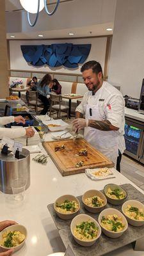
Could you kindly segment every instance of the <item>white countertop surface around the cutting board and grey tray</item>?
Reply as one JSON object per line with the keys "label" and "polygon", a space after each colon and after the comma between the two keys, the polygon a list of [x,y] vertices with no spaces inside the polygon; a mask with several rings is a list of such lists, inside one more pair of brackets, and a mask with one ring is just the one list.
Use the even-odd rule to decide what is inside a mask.
{"label": "white countertop surface around the cutting board and grey tray", "polygon": [[[47,134],[51,140],[51,133]],[[42,145],[41,145],[42,147]],[[43,148],[43,152],[44,148]],[[31,154],[31,159],[36,154]],[[54,221],[47,210],[61,195],[83,195],[88,189],[103,189],[109,182],[115,184],[130,183],[139,189],[130,180],[115,170],[116,178],[93,181],[84,173],[62,177],[51,158],[46,166],[31,160],[31,186],[26,190],[24,201],[15,202],[11,195],[0,193],[1,217],[3,220],[15,220],[28,230],[26,244],[15,256],[47,256],[52,252],[64,252],[65,247],[54,225]],[[139,189],[141,191],[141,189]],[[144,194],[144,191],[141,191]],[[107,256],[144,256],[144,252],[134,252],[129,244]]]}

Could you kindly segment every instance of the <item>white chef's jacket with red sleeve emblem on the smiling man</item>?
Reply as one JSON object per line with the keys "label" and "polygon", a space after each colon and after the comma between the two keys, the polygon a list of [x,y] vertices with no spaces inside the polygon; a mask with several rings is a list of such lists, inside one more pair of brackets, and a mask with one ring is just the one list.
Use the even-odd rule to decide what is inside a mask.
{"label": "white chef's jacket with red sleeve emblem on the smiling man", "polygon": [[[103,120],[109,120],[112,125],[118,127],[118,149],[123,154],[125,150],[124,126],[125,126],[125,101],[122,93],[114,86],[104,81],[100,89],[92,95],[92,91],[84,94],[83,100],[76,111],[83,115],[86,113],[86,104],[94,105],[99,101],[99,111]],[[106,131],[107,132],[107,131]]]}

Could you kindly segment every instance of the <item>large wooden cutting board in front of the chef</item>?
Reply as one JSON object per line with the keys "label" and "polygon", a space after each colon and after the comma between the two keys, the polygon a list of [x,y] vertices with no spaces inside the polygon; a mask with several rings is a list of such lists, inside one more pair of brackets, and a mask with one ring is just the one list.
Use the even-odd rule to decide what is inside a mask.
{"label": "large wooden cutting board in front of the chef", "polygon": [[[65,146],[65,149],[55,152],[57,145]],[[114,164],[106,156],[96,150],[83,138],[77,140],[46,141],[43,143],[45,150],[58,167],[63,176],[82,173],[86,168],[113,167]],[[79,150],[86,148],[88,156],[78,156]],[[82,167],[76,168],[75,164],[83,161]]]}

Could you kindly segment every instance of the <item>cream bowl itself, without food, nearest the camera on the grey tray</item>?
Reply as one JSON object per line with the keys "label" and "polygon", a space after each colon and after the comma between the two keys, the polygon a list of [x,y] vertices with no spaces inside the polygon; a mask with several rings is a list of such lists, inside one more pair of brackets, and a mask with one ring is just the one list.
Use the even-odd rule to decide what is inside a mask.
{"label": "cream bowl itself, without food, nearest the camera on the grey tray", "polygon": [[[97,237],[93,238],[90,241],[83,241],[79,238],[76,237],[76,235],[74,234],[74,230],[76,228],[77,225],[79,225],[80,223],[83,223],[83,221],[90,221],[93,222],[95,224],[95,227],[98,228],[98,233],[97,233]],[[77,215],[71,222],[70,224],[70,230],[72,233],[72,236],[74,237],[75,241],[77,242],[77,244],[80,244],[81,246],[92,246],[97,239],[99,239],[100,235],[101,235],[101,228],[99,223],[93,219],[91,216],[87,215],[87,214],[79,214]]]}

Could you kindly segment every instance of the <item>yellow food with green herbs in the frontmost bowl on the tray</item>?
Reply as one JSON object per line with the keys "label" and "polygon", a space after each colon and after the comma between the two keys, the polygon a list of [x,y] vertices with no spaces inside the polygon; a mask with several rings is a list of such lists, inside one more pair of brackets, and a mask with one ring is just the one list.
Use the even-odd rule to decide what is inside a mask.
{"label": "yellow food with green herbs in the frontmost bowl on the tray", "polygon": [[98,235],[99,228],[92,221],[83,221],[74,228],[74,236],[82,241],[91,241]]}

